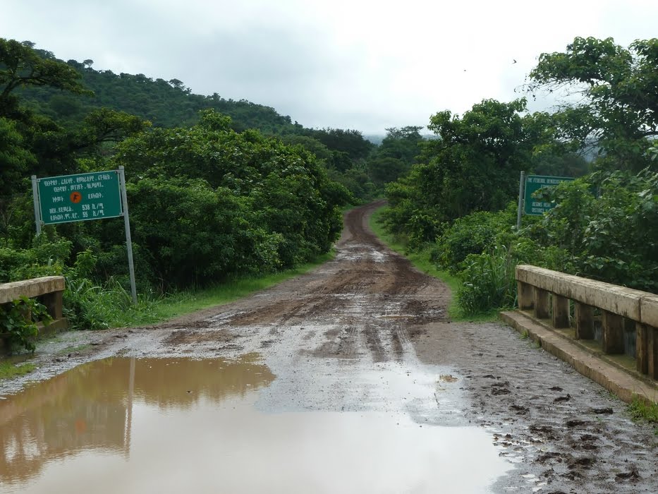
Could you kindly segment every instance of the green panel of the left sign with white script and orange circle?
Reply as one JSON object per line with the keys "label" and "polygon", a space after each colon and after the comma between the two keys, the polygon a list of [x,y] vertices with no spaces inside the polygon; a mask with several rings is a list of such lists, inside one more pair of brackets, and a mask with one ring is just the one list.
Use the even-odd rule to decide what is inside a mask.
{"label": "green panel of the left sign with white script and orange circle", "polygon": [[118,171],[37,179],[44,224],[84,222],[121,216]]}

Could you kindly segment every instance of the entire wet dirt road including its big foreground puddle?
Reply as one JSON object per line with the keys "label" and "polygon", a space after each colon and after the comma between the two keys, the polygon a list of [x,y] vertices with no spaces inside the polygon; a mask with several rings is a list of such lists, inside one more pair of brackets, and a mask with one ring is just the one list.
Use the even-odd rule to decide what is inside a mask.
{"label": "entire wet dirt road including its big foreground puddle", "polygon": [[[9,471],[0,487],[52,492],[68,485],[63,472],[102,479],[111,464],[99,483],[107,492],[185,483],[197,492],[658,492],[651,428],[513,330],[450,323],[448,289],[372,236],[372,209],[346,215],[336,259],[307,275],[158,327],[91,335],[97,345],[77,361],[44,357],[43,377],[121,356],[43,382],[49,390],[31,399],[0,401]],[[200,379],[200,364],[183,357],[222,360]],[[173,384],[163,377],[170,366],[181,376]],[[85,391],[102,375],[121,386]],[[77,408],[42,403],[53,387],[66,397],[56,403]],[[66,418],[72,410],[80,417]],[[123,442],[98,439],[111,410],[123,411]],[[121,462],[121,448],[103,441],[121,442]],[[29,463],[21,458],[40,466],[16,483]]]}

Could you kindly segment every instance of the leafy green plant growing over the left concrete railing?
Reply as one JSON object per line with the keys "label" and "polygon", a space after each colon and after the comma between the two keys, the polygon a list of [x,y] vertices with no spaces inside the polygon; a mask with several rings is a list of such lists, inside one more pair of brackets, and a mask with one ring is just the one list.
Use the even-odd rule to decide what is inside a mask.
{"label": "leafy green plant growing over the left concrete railing", "polygon": [[37,323],[52,322],[46,306],[26,296],[0,306],[0,334],[6,335],[9,348],[23,347],[35,351],[35,339],[39,335]]}

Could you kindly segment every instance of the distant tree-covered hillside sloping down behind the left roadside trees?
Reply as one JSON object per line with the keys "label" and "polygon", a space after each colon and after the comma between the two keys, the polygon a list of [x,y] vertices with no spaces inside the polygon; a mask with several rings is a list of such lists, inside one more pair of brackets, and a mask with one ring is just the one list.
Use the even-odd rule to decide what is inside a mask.
{"label": "distant tree-covered hillside sloping down behind the left roadside trees", "polygon": [[[154,128],[173,128],[193,126],[200,121],[200,112],[212,109],[230,116],[229,125],[236,132],[257,129],[263,135],[276,136],[288,145],[300,145],[312,152],[331,179],[348,188],[353,201],[374,198],[382,193],[384,183],[408,171],[418,154],[416,144],[422,140],[420,127],[391,128],[381,145],[375,146],[357,130],[305,128],[272,107],[226,100],[217,92],[195,95],[178,79],[153,80],[144,74],[96,71],[91,59],[65,63],[47,50],[35,49],[30,42],[23,42],[23,47],[32,49],[40,59],[75,71],[80,86],[80,90],[63,91],[66,88],[57,84],[19,84],[12,91],[26,111],[73,130],[85,128],[94,118],[90,115],[107,110],[139,117]],[[406,150],[393,151],[393,147]],[[379,148],[384,151],[377,152]]]}

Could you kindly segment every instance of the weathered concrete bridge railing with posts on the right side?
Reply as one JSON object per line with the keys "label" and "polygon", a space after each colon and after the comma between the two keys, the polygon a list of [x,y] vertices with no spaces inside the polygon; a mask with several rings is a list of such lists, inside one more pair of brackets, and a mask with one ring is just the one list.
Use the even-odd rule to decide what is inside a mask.
{"label": "weathered concrete bridge railing with posts on the right side", "polygon": [[599,320],[605,354],[623,354],[624,333],[634,331],[637,370],[658,379],[658,295],[530,265],[516,267],[516,280],[520,311],[573,327],[576,339],[594,339]]}

